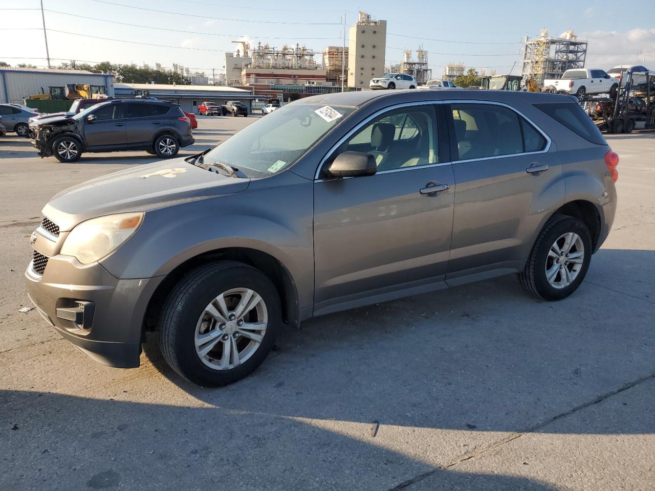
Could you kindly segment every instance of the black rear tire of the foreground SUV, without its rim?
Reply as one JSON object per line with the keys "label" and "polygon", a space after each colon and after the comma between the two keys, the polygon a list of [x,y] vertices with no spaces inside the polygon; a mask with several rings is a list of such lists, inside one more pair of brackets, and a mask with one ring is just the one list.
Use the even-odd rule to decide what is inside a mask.
{"label": "black rear tire of the foreground SUV, without its rim", "polygon": [[[548,282],[548,278],[546,278],[547,261],[552,261],[552,259],[549,259],[548,254],[555,241],[567,232],[578,234],[584,247],[584,257],[582,266],[574,280],[569,285],[558,289],[553,287]],[[517,276],[525,291],[532,293],[540,299],[561,300],[571,295],[580,286],[580,283],[582,283],[582,280],[584,280],[587,274],[590,262],[591,234],[589,234],[586,225],[574,217],[555,215],[546,223],[539,234],[525,263],[525,269]]]}

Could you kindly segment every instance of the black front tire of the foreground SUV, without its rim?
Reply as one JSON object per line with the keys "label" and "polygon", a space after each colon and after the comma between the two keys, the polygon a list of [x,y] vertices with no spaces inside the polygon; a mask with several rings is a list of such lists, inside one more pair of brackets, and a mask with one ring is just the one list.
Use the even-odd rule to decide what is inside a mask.
{"label": "black front tire of the foreground SUV, without its rim", "polygon": [[[268,323],[263,339],[250,358],[240,365],[212,369],[196,353],[198,319],[217,295],[241,287],[256,291],[265,302]],[[280,298],[271,280],[247,264],[219,261],[192,270],[168,295],[162,308],[159,344],[168,365],[189,382],[219,387],[244,378],[261,365],[271,352],[281,325]]]}

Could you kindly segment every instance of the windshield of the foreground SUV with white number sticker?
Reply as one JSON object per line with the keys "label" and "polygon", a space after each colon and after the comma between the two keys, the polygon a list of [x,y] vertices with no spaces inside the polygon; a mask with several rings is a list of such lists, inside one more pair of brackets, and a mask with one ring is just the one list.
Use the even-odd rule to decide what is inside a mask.
{"label": "windshield of the foreground SUV with white number sticker", "polygon": [[214,147],[204,162],[222,162],[252,178],[268,177],[288,168],[352,111],[354,107],[285,105]]}

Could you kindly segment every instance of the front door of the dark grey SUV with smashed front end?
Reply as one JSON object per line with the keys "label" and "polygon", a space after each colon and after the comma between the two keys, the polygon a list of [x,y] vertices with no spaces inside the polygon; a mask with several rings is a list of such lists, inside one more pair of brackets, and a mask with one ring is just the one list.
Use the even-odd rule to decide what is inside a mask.
{"label": "front door of the dark grey SUV with smashed front end", "polygon": [[123,104],[111,103],[98,107],[91,114],[95,121],[84,120],[86,147],[91,151],[125,147],[125,119]]}

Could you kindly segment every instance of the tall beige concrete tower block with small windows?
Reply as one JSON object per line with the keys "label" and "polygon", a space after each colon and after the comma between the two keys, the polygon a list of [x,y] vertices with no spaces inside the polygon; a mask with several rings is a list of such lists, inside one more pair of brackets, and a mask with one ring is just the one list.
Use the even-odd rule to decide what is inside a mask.
{"label": "tall beige concrete tower block with small windows", "polygon": [[360,11],[348,39],[348,87],[367,88],[372,78],[384,75],[386,20],[372,20]]}

